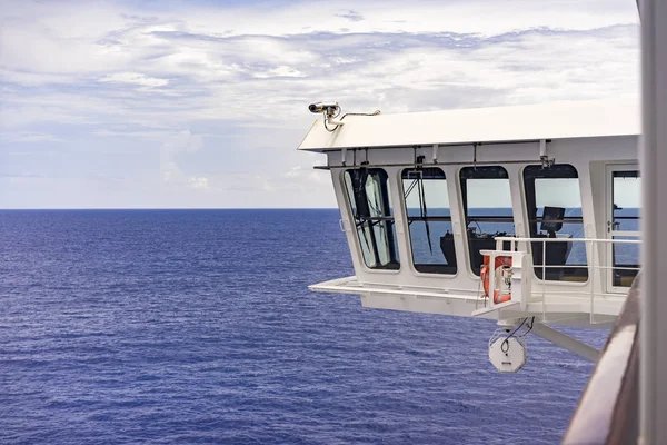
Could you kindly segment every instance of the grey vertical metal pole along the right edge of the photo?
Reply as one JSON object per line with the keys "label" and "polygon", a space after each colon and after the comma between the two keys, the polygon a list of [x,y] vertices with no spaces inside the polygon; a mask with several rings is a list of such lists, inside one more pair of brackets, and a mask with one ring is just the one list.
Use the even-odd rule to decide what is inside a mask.
{"label": "grey vertical metal pole along the right edge of the photo", "polygon": [[641,0],[641,437],[667,444],[667,0]]}

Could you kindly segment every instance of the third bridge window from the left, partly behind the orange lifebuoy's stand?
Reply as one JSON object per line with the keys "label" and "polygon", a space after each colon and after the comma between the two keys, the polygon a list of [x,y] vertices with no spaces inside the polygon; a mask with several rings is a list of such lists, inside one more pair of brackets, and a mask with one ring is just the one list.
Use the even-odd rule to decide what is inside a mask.
{"label": "third bridge window from the left, partly behind the orange lifebuoy's stand", "polygon": [[509,176],[499,166],[466,167],[460,179],[470,268],[479,275],[480,250],[495,250],[496,237],[515,234]]}

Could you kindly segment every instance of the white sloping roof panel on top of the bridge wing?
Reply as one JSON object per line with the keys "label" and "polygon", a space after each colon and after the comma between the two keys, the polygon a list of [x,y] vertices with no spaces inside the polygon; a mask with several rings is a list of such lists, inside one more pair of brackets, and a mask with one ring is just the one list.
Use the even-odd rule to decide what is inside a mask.
{"label": "white sloping roof panel on top of the bridge wing", "polygon": [[318,119],[299,149],[321,151],[628,136],[639,135],[641,127],[637,99],[348,116],[344,122],[336,131],[329,132],[325,129],[323,119]]}

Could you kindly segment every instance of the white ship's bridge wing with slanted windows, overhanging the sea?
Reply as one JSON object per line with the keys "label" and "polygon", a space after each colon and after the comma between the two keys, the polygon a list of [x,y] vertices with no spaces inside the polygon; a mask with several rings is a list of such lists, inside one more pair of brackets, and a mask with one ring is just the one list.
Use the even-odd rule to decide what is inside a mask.
{"label": "white ship's bridge wing with slanted windows, overhanging the sea", "polygon": [[355,276],[310,286],[365,307],[498,322],[501,372],[557,326],[610,328],[639,270],[639,102],[554,102],[406,115],[321,111],[322,152]]}

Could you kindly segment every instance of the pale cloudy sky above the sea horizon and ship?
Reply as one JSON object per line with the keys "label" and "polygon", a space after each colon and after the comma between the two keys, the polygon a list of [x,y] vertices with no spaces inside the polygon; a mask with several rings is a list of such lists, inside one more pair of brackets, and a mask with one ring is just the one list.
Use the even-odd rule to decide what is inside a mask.
{"label": "pale cloudy sky above the sea horizon and ship", "polygon": [[634,0],[0,0],[0,208],[336,207],[316,101],[637,96]]}

